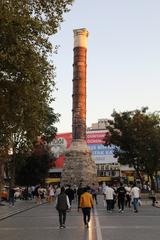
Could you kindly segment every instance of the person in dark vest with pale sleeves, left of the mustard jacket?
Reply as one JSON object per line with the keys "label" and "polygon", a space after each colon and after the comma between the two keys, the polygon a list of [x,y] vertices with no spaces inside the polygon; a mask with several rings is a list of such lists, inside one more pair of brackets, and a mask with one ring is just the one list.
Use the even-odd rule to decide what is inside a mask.
{"label": "person in dark vest with pale sleeves, left of the mustard jacket", "polygon": [[65,188],[61,187],[61,192],[57,196],[56,199],[56,209],[59,214],[59,224],[60,228],[65,228],[65,222],[66,222],[66,212],[68,209],[70,209],[70,203],[69,198],[67,194],[65,193]]}

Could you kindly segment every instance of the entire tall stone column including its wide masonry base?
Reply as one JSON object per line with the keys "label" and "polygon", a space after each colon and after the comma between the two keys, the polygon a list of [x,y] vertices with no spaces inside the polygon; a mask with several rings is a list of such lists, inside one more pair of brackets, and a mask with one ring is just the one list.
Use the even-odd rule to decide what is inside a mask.
{"label": "entire tall stone column including its wide masonry base", "polygon": [[96,164],[86,143],[86,55],[88,31],[74,32],[72,144],[65,154],[62,184],[96,183]]}

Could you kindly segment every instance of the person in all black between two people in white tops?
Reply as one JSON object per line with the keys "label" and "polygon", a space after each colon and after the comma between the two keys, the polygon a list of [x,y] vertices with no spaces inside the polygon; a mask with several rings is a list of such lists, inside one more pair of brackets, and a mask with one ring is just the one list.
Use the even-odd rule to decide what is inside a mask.
{"label": "person in all black between two people in white tops", "polygon": [[123,183],[120,183],[120,187],[117,188],[117,198],[118,198],[118,208],[119,212],[124,212],[126,189],[123,186]]}

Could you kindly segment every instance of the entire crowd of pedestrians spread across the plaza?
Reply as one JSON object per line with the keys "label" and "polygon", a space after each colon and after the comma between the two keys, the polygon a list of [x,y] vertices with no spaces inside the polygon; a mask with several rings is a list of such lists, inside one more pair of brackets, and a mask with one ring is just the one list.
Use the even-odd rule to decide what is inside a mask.
{"label": "entire crowd of pedestrians spread across the plaza", "polygon": [[[59,227],[66,227],[67,212],[72,209],[72,202],[77,203],[77,211],[81,210],[84,226],[89,227],[91,218],[91,209],[98,204],[97,195],[103,195],[104,209],[106,212],[112,213],[118,209],[119,213],[123,213],[125,208],[132,208],[135,213],[138,212],[141,205],[141,190],[136,184],[124,185],[122,182],[116,186],[112,184],[103,184],[101,187],[96,184],[91,186],[62,186],[49,184],[46,187],[41,185],[24,188],[19,194],[20,199],[34,200],[36,204],[43,201],[49,204],[54,203],[59,216]],[[14,206],[16,191],[14,188],[9,190],[9,206]],[[18,197],[18,195],[17,195]],[[154,199],[155,201],[155,199]]]}

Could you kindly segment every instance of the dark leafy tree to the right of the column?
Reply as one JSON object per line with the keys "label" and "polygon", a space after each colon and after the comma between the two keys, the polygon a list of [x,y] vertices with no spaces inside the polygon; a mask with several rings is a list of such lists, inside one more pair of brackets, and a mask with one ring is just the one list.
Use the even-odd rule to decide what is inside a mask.
{"label": "dark leafy tree to the right of the column", "polygon": [[147,174],[154,188],[154,179],[160,163],[160,117],[147,113],[148,108],[128,112],[113,112],[105,145],[114,144],[114,156],[121,164],[129,164],[143,182]]}

